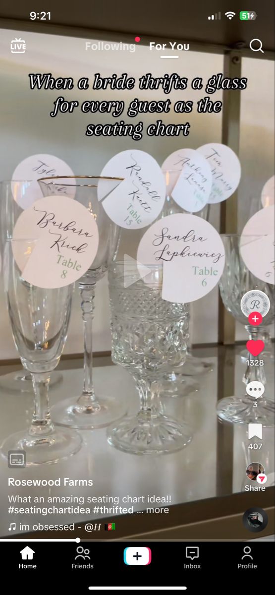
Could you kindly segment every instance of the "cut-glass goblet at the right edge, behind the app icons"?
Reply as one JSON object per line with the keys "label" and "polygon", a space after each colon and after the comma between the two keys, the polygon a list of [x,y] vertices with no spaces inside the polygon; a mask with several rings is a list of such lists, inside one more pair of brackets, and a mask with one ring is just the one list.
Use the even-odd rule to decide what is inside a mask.
{"label": "cut-glass goblet at the right edge, behind the app icons", "polygon": [[[221,299],[227,311],[238,322],[245,325],[249,339],[257,340],[261,333],[260,327],[249,325],[248,318],[240,308],[240,301],[246,292],[253,289],[264,292],[270,299],[270,310],[263,320],[266,325],[270,325],[274,321],[274,285],[265,283],[250,273],[240,255],[240,236],[229,234],[221,237],[226,257],[226,264],[220,279]],[[265,384],[264,365],[256,364],[256,361],[261,361],[261,354],[257,357],[251,353],[248,355],[248,365],[243,375],[243,383],[248,384],[252,380],[257,380]],[[274,425],[274,402],[265,399],[264,395],[257,400],[257,407],[254,407],[254,402],[255,398],[246,394],[243,389],[240,396],[225,397],[218,401],[218,417],[241,424],[258,422],[262,425]]]}

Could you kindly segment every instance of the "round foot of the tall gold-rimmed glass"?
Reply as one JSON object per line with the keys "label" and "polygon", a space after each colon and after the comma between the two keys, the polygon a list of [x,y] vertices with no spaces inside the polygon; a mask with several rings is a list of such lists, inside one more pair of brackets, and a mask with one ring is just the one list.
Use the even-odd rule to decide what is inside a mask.
{"label": "round foot of the tall gold-rimmed glass", "polygon": [[73,397],[57,403],[51,409],[55,424],[77,430],[105,428],[125,414],[126,405],[112,397],[99,397],[95,406],[80,405],[77,397]]}

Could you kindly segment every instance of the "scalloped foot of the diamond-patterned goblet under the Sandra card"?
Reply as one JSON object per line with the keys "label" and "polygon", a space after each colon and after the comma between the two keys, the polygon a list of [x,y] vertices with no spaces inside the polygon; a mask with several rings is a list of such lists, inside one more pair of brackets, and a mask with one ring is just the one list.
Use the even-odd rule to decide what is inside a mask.
{"label": "scalloped foot of the diamond-patterned goblet under the Sandra card", "polygon": [[112,424],[107,430],[111,446],[133,455],[164,455],[182,450],[192,440],[190,428],[184,422],[158,415],[133,415]]}

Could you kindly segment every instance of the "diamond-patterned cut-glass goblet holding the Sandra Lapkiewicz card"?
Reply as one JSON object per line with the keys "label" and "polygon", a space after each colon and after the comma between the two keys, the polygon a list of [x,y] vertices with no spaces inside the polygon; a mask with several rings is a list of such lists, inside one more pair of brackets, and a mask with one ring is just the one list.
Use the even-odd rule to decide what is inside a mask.
{"label": "diamond-patterned cut-glass goblet holding the Sandra Lapkiewicz card", "polygon": [[152,265],[146,283],[135,262],[109,269],[112,360],[132,374],[140,411],[107,428],[108,442],[136,455],[169,453],[191,440],[185,422],[166,417],[160,402],[161,376],[186,358],[187,308],[161,297],[162,266]]}

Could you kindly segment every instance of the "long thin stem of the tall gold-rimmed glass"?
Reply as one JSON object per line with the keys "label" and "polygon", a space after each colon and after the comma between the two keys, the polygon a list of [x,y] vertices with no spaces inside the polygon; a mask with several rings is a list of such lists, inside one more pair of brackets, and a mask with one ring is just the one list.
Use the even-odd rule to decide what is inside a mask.
{"label": "long thin stem of the tall gold-rimmed glass", "polygon": [[84,385],[77,403],[84,407],[99,406],[93,391],[93,312],[95,309],[95,283],[79,285],[81,296],[82,320],[84,324]]}

